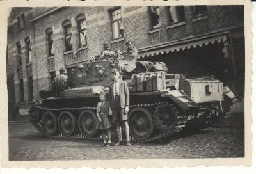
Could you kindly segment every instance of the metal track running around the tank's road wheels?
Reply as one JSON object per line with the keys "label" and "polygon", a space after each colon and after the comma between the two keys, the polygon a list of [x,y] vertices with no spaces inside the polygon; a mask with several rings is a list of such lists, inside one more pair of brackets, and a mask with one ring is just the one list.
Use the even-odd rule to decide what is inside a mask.
{"label": "metal track running around the tank's road wheels", "polygon": [[[136,105],[132,105],[129,107],[155,107],[155,111],[158,107],[161,107],[163,105],[170,105],[172,106],[172,104],[168,103],[168,102],[157,102],[157,103],[152,103],[152,104],[136,104]],[[97,107],[81,107],[81,108],[58,108],[58,109],[51,109],[51,108],[47,108],[47,107],[42,107],[42,106],[33,106],[36,107],[37,109],[40,109],[41,111],[82,111],[84,109],[91,109],[91,110],[96,110]],[[159,134],[153,134],[153,136],[151,138],[145,139],[145,140],[138,140],[135,139],[133,137],[131,137],[131,142],[133,143],[151,143],[153,141],[161,141],[161,139],[163,138],[167,138],[169,136],[171,136],[172,134],[182,131],[182,129],[184,129],[185,125],[186,125],[186,120],[187,120],[187,116],[186,115],[182,115],[182,112],[178,112],[177,111],[177,125],[175,125],[175,127],[172,127],[172,130],[166,130],[166,128],[163,128],[163,125],[155,125],[154,126],[160,130]],[[156,112],[153,115],[153,122],[156,123]],[[88,139],[88,140],[100,140],[102,138],[100,138],[100,136],[97,137],[92,137],[92,138],[88,138],[86,136],[84,136],[81,133],[75,133],[73,136],[64,136],[63,134],[58,133],[57,135],[52,135],[52,136],[48,136],[46,135],[42,123],[40,122],[40,120],[35,120],[35,118],[33,118],[31,116],[31,118],[29,119],[30,122],[32,123],[32,125],[45,137],[47,138],[65,138],[65,139]],[[171,129],[170,127],[168,129]]]}

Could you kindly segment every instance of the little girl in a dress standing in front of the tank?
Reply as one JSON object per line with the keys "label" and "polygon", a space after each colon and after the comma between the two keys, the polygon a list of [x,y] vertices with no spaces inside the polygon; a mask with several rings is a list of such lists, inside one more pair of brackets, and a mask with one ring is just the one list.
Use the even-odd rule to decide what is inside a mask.
{"label": "little girl in a dress standing in front of the tank", "polygon": [[[98,123],[96,125],[96,128],[102,131],[102,146],[108,147],[111,145],[111,122],[108,116],[108,104],[106,99],[106,93],[104,93],[104,91],[100,92],[100,102],[97,106],[97,119]],[[106,134],[108,135],[108,142],[106,140]]]}

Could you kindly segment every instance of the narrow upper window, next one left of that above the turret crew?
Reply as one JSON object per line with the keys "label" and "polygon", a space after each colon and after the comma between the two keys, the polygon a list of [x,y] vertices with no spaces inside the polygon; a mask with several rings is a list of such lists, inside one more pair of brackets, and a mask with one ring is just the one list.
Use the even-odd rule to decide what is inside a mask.
{"label": "narrow upper window, next one left of that above the turret crew", "polygon": [[78,35],[79,35],[79,47],[84,47],[87,45],[86,40],[86,20],[84,15],[77,17],[78,24]]}

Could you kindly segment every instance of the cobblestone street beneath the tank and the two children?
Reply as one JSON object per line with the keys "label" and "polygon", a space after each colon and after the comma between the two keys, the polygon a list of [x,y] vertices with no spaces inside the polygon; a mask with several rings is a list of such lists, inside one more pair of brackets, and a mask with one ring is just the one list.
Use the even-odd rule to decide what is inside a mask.
{"label": "cobblestone street beneath the tank and the two children", "polygon": [[244,157],[244,128],[210,127],[131,147],[100,145],[99,140],[44,138],[29,123],[9,123],[10,161]]}

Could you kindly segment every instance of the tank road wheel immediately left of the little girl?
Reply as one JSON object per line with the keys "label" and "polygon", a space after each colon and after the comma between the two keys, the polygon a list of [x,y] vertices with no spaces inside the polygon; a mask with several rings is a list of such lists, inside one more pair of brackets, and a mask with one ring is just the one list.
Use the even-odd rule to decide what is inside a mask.
{"label": "tank road wheel immediately left of the little girl", "polygon": [[78,117],[78,129],[88,138],[95,136],[97,117],[95,113],[91,110],[83,111]]}

